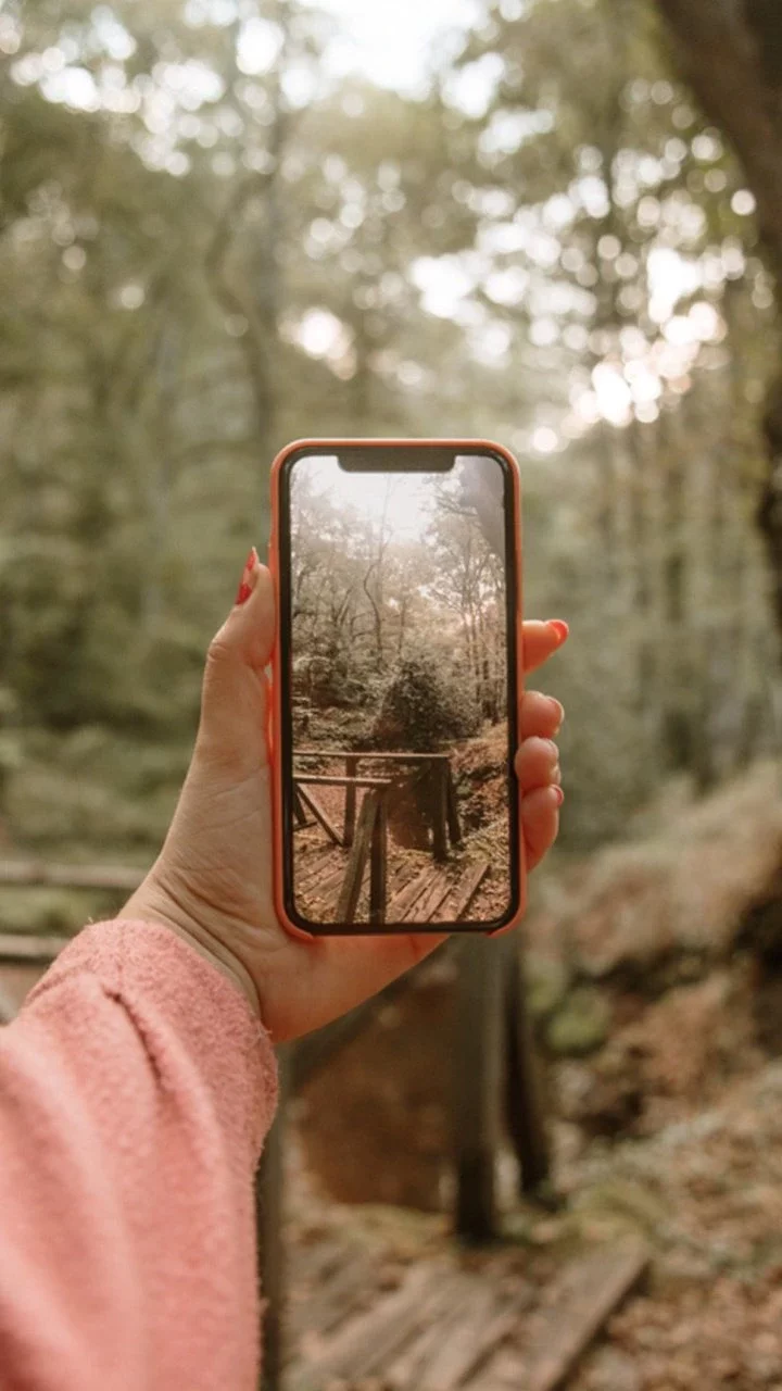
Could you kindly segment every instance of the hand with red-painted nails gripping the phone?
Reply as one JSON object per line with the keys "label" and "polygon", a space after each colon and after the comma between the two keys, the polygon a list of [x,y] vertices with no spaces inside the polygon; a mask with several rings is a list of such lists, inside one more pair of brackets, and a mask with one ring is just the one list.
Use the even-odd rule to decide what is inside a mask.
{"label": "hand with red-painted nails gripping the phone", "polygon": [[[438,946],[437,933],[314,938],[285,932],[274,911],[271,775],[266,676],[274,644],[274,591],[253,554],[239,601],[209,648],[193,758],[166,844],[122,915],[163,922],[230,975],[276,1043],[328,1024]],[[525,668],[541,666],[568,636],[564,623],[525,623]],[[558,830],[559,761],[551,737],[558,701],[520,702],[527,868]]]}

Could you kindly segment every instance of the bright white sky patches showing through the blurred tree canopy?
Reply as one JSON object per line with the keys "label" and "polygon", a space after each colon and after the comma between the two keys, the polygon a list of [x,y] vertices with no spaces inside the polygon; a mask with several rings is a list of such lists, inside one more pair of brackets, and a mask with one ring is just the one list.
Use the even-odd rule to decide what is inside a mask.
{"label": "bright white sky patches showing through the blurred tree canopy", "polygon": [[[218,6],[220,3],[228,4],[228,8],[231,8],[231,0],[191,0],[191,3],[202,10],[205,6],[209,8],[209,4]],[[324,60],[324,71],[330,77],[338,79],[355,72],[378,85],[397,88],[412,96],[426,89],[427,74],[434,65],[442,64],[448,50],[458,51],[465,29],[480,17],[484,8],[483,0],[313,0],[313,3],[317,4],[319,10],[331,13],[335,21],[337,32]],[[508,7],[509,13],[519,4],[522,4],[522,0],[504,0],[504,7]],[[3,4],[0,0],[1,8]],[[111,22],[107,14],[109,11],[100,7],[96,8],[95,22],[102,26],[102,42],[106,46],[106,51],[117,63],[121,63],[132,53],[132,39],[121,25]],[[256,18],[248,21],[239,51],[239,67],[244,72],[249,74],[266,72],[276,61],[278,50],[278,43],[270,35],[270,26]],[[0,24],[1,53],[15,51],[13,46],[8,47],[13,38],[13,35],[8,36],[7,26],[4,31]],[[246,64],[245,67],[242,67],[242,61]],[[188,64],[185,67],[186,72],[174,65],[168,78],[164,77],[163,79],[163,88],[168,83],[171,89],[161,89],[154,95],[154,100],[163,102],[160,110],[152,110],[150,107],[150,113],[159,125],[160,121],[163,127],[166,127],[167,121],[173,121],[171,113],[177,103],[182,103],[186,110],[195,110],[200,100],[213,100],[216,93],[212,92],[210,82],[217,82],[217,95],[220,92],[218,79],[203,64]],[[24,72],[22,68],[25,68]],[[102,89],[99,92],[90,72],[81,67],[78,61],[74,63],[72,58],[67,58],[65,53],[60,49],[22,58],[14,70],[14,77],[15,81],[28,85],[31,82],[40,82],[42,90],[50,100],[67,100],[70,104],[83,110],[96,110],[102,102],[110,110],[117,111],[138,108],[139,97],[131,86],[125,86],[122,90]],[[486,64],[483,67],[480,63],[470,64],[459,74],[458,89],[451,89],[449,86],[449,99],[455,100],[468,114],[477,115],[486,107],[495,77],[497,74],[491,68],[487,68]],[[174,79],[177,85],[174,85]],[[182,83],[189,83],[192,90],[189,93],[184,92]],[[184,97],[188,97],[188,100],[185,102]],[[302,100],[306,99],[305,93]],[[122,103],[127,100],[135,102],[136,106],[124,106]],[[115,104],[117,102],[120,104]],[[520,138],[520,132],[518,134]],[[152,145],[154,145],[157,136],[150,135]],[[185,172],[188,167],[186,157],[182,152],[168,147],[170,140],[166,136],[166,131],[163,131],[159,143],[163,153],[160,154],[160,164],[156,167],[164,166],[170,172]],[[145,152],[145,157],[147,156],[149,152]],[[173,161],[178,161],[177,167],[174,167]],[[580,181],[582,193],[589,182],[589,178]],[[736,207],[736,211],[750,213],[753,206],[751,196],[749,193],[737,196],[746,199],[747,203],[740,209]],[[558,202],[568,204],[566,198],[559,198]],[[584,206],[587,204],[584,203]],[[509,249],[506,239],[512,234],[513,248],[520,255],[527,255],[536,264],[544,264],[540,256],[545,250],[548,257],[545,264],[554,264],[558,256],[555,235],[550,231],[543,236],[548,249],[544,246],[541,250],[537,243],[540,243],[543,234],[540,228],[536,230],[536,225],[533,225],[536,224],[536,218],[533,217],[530,221],[530,217],[527,217],[527,224],[525,224],[523,217],[520,218],[516,214],[512,221],[490,228],[490,232],[495,238],[500,234],[505,238],[502,243],[505,250]],[[607,241],[611,241],[611,238],[607,238]],[[616,250],[619,252],[619,243],[616,242]],[[422,259],[413,264],[412,275],[420,292],[423,307],[433,316],[459,323],[469,335],[474,356],[481,362],[490,362],[497,369],[502,369],[508,360],[508,349],[512,341],[511,331],[502,323],[487,323],[486,314],[476,319],[477,309],[473,299],[474,285],[477,282],[483,284],[491,271],[491,250],[493,248],[488,245],[484,245],[483,249],[479,245],[476,252],[465,256]],[[731,255],[740,257],[740,250],[735,249]],[[739,274],[740,270],[740,266],[731,268],[725,264],[724,267],[725,274]],[[687,259],[672,248],[661,245],[651,252],[647,271],[651,291],[650,316],[654,323],[660,324],[660,342],[654,345],[654,349],[650,349],[648,344],[639,339],[629,355],[630,360],[628,364],[601,363],[596,367],[590,389],[583,392],[579,402],[573,406],[579,431],[582,427],[601,417],[618,426],[629,423],[633,413],[643,420],[655,419],[662,381],[679,380],[686,384],[687,373],[697,357],[700,344],[719,341],[724,332],[719,316],[705,302],[697,303],[690,309],[689,314],[679,314],[676,312],[682,296],[693,295],[701,284],[705,285],[704,264],[697,257]],[[505,280],[500,287],[497,285],[497,277],[494,277],[495,284],[490,287],[491,292],[501,289],[504,294],[509,291],[512,296],[516,296],[516,299],[500,299],[498,302],[518,302],[518,295],[520,294],[519,275],[520,273],[516,267],[515,285],[508,285],[508,274],[505,273]],[[124,307],[128,309],[138,307],[138,303],[128,303],[122,299]],[[557,335],[558,330],[551,313],[536,313],[537,328]],[[633,332],[632,330],[628,331]],[[313,306],[303,316],[296,332],[296,341],[301,342],[306,352],[328,359],[340,357],[340,355],[344,356],[344,337],[345,325],[319,306]],[[532,341],[534,342],[536,339],[533,338]],[[537,341],[541,345],[544,344],[543,338]],[[540,430],[534,431],[532,444],[536,452],[547,453],[557,449],[558,438],[550,426],[543,424]]]}

